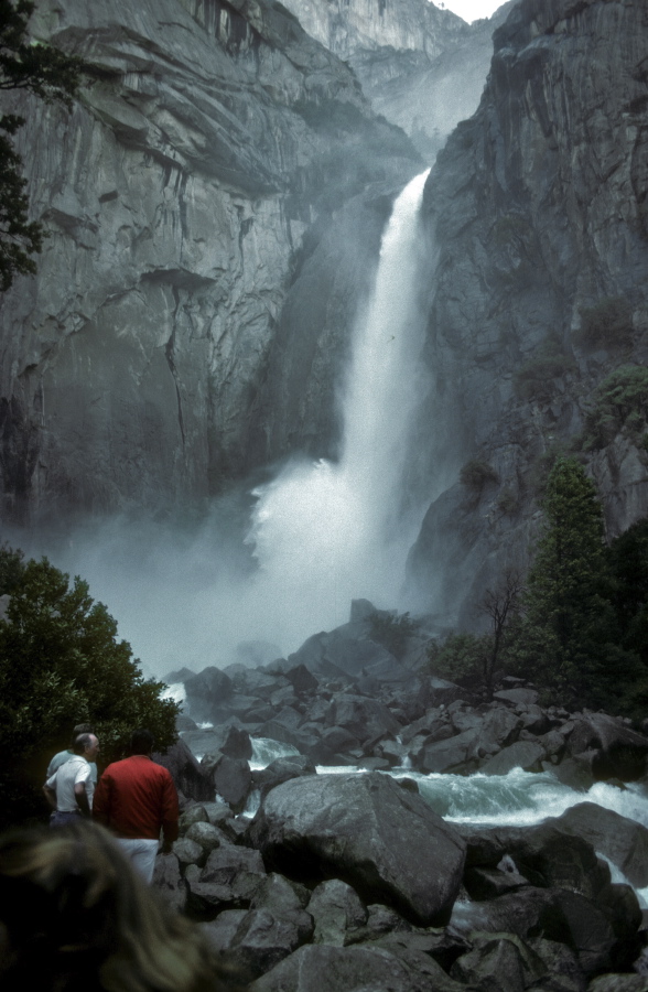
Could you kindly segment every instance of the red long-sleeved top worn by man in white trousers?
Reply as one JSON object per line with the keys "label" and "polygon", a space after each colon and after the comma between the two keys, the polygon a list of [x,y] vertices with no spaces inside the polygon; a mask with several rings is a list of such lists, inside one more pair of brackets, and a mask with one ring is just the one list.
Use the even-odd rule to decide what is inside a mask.
{"label": "red long-sleeved top worn by man in white trousers", "polygon": [[153,840],[177,838],[177,792],[171,773],[148,755],[114,762],[95,791],[93,819],[118,837]]}

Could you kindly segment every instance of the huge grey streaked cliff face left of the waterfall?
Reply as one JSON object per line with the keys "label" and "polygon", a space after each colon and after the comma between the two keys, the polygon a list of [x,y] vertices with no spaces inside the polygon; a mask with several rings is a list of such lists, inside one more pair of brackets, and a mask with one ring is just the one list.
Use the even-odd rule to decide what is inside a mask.
{"label": "huge grey streaked cliff face left of the waterfall", "polygon": [[304,237],[417,155],[264,0],[43,0],[33,33],[95,68],[69,116],[18,105],[50,236],[0,301],[4,516],[182,506],[249,461]]}

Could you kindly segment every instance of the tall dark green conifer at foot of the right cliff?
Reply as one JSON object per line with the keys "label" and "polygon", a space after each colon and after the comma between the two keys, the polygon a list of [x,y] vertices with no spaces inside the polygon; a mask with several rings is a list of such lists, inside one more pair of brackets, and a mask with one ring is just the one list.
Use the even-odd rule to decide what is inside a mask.
{"label": "tall dark green conifer at foot of the right cliff", "polygon": [[563,704],[615,709],[640,669],[622,646],[601,504],[575,459],[555,461],[542,510],[518,664]]}

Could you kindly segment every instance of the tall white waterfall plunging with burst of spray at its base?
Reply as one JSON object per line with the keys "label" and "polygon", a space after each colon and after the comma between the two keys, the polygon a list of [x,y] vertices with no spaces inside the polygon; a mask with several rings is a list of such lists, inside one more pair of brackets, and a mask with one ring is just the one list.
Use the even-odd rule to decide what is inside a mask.
{"label": "tall white waterfall plunging with burst of spray at its base", "polygon": [[339,462],[293,463],[255,494],[249,541],[260,565],[257,591],[270,593],[272,637],[285,650],[345,623],[354,597],[398,605],[413,537],[399,506],[420,396],[419,213],[426,176],[400,194],[382,236],[343,389]]}

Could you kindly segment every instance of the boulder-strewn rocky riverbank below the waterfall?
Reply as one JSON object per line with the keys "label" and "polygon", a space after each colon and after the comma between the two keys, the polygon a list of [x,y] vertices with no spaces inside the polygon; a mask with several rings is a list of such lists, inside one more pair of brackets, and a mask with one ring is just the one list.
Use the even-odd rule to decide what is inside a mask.
{"label": "boulder-strewn rocky riverbank below the waterfall", "polygon": [[[532,827],[451,823],[414,780],[551,769],[585,799],[595,780],[640,779],[648,737],[515,680],[484,701],[417,671],[422,635],[397,661],[370,616],[356,602],[256,669],[173,673],[192,716],[160,757],[183,813],[159,887],[255,992],[648,989],[644,826],[590,801]],[[252,769],[259,737],[300,754]]]}

